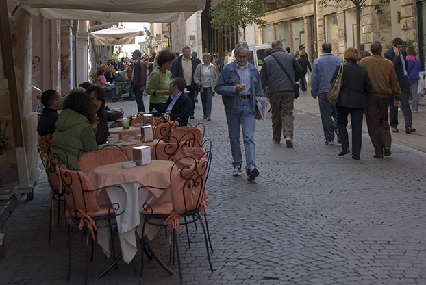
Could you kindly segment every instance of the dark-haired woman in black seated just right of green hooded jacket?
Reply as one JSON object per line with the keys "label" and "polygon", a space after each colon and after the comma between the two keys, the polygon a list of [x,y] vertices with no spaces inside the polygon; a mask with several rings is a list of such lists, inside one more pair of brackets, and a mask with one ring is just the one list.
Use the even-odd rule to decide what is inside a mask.
{"label": "dark-haired woman in black seated just right of green hooded jacket", "polygon": [[[99,123],[96,132],[96,143],[102,145],[106,143],[110,131],[108,130],[108,122],[116,121],[123,116],[120,111],[111,111],[105,106],[105,91],[97,85],[89,86],[86,93],[92,97],[93,100],[93,111],[95,112]],[[108,108],[108,110],[107,110]]]}

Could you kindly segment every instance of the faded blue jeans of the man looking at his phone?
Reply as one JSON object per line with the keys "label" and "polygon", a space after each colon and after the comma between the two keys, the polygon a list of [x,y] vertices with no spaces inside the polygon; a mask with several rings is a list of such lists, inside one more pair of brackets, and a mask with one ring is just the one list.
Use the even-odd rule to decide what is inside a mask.
{"label": "faded blue jeans of the man looking at his phone", "polygon": [[255,165],[255,144],[254,131],[256,125],[256,114],[251,112],[250,99],[240,99],[238,113],[226,112],[228,123],[229,140],[231,140],[231,153],[234,162],[232,166],[242,164],[242,154],[240,145],[240,127],[242,127],[242,140],[244,140],[244,149],[246,154],[246,173]]}

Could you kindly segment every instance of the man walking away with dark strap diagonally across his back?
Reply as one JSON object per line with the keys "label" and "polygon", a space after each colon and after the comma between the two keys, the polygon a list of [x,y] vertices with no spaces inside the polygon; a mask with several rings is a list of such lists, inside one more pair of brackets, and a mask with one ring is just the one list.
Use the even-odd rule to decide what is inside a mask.
{"label": "man walking away with dark strap diagonally across his back", "polygon": [[[269,89],[269,102],[271,103],[273,143],[280,143],[281,129],[286,139],[287,147],[293,147],[293,109],[295,103],[295,89],[292,82],[300,79],[303,71],[296,58],[286,53],[281,40],[274,40],[271,44],[271,55],[264,59],[260,78],[262,86]],[[279,63],[286,69],[287,77]]]}

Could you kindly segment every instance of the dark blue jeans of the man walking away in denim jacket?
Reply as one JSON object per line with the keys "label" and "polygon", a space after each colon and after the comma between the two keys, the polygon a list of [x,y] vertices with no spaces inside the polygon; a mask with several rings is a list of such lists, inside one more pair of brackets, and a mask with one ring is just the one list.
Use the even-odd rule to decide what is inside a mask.
{"label": "dark blue jeans of the man walking away in denim jacket", "polygon": [[334,140],[334,132],[338,133],[337,128],[337,109],[332,106],[327,98],[328,93],[319,93],[318,104],[321,114],[321,123],[323,123],[324,136],[326,140]]}

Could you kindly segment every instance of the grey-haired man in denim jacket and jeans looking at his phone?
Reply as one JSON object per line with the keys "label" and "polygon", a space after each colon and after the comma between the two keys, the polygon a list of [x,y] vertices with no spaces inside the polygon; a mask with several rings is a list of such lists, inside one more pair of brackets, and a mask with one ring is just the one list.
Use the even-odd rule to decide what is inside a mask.
{"label": "grey-haired man in denim jacket and jeans looking at his phone", "polygon": [[228,123],[231,153],[234,162],[232,175],[242,174],[242,154],[240,146],[240,127],[246,155],[246,173],[249,182],[254,182],[259,171],[255,164],[254,131],[256,123],[256,96],[262,97],[262,82],[258,69],[247,62],[249,46],[238,42],[235,47],[234,62],[223,67],[214,90],[222,95]]}

